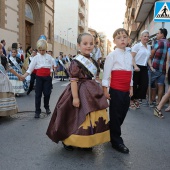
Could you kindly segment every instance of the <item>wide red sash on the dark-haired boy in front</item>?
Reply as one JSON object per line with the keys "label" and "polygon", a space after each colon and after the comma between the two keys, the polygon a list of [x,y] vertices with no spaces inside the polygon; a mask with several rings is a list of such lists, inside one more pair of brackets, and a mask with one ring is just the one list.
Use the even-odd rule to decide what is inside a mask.
{"label": "wide red sash on the dark-haired boy in front", "polygon": [[130,90],[131,77],[131,71],[113,70],[111,73],[110,87],[115,90],[128,92]]}

